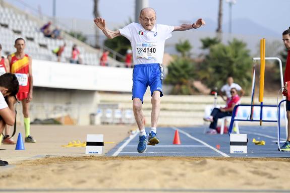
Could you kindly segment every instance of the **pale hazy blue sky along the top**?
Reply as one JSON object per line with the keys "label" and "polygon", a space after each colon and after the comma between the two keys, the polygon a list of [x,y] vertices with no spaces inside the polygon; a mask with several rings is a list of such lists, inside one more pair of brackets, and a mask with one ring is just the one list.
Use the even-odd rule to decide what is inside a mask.
{"label": "pale hazy blue sky along the top", "polygon": [[[28,10],[23,5],[25,2],[30,8],[41,8],[44,15],[52,16],[52,0],[6,1]],[[56,0],[56,6],[57,17],[93,19],[93,0]],[[157,22],[161,24],[177,25],[198,18],[217,22],[218,0],[149,0],[149,6],[156,10]],[[125,23],[129,18],[134,19],[134,9],[135,0],[99,0],[100,15],[110,22]],[[250,19],[278,34],[290,26],[290,0],[237,0],[232,11],[233,20]],[[223,0],[224,24],[228,23],[228,12],[229,6]]]}

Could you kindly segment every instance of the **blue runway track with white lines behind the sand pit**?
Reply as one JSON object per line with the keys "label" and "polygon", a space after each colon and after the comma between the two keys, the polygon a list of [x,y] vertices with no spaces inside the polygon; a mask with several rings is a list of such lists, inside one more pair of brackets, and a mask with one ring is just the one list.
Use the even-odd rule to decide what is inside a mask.
{"label": "blue runway track with white lines behind the sand pit", "polygon": [[[137,152],[139,132],[131,135],[106,156],[169,156],[169,157],[290,157],[290,152],[278,151],[277,127],[276,126],[240,126],[240,133],[247,134],[248,153],[230,154],[229,136],[206,135],[207,126],[194,127],[160,127],[157,128],[160,143],[156,146],[148,146],[144,153]],[[146,128],[147,134],[149,128]],[[173,145],[175,131],[179,131],[181,145]],[[285,140],[285,134],[281,133],[281,140]],[[252,143],[253,138],[257,141],[264,140],[266,145],[258,146]],[[216,145],[220,149],[216,149]]]}

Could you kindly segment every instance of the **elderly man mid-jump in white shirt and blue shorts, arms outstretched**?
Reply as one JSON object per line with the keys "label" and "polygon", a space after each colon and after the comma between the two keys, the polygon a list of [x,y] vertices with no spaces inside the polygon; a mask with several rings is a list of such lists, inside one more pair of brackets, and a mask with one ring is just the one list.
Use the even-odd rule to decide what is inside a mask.
{"label": "elderly man mid-jump in white shirt and blue shorts, arms outstretched", "polygon": [[[156,145],[159,139],[156,137],[156,127],[160,111],[160,97],[162,94],[163,68],[162,58],[165,40],[171,37],[172,31],[185,31],[199,28],[205,25],[205,21],[198,19],[193,24],[182,24],[180,26],[166,26],[155,24],[156,13],[152,8],[144,8],[140,12],[139,22],[131,23],[122,29],[111,31],[106,28],[105,20],[96,18],[95,24],[110,39],[123,35],[127,37],[133,50],[133,111],[140,130],[138,152],[143,153],[148,145]],[[151,131],[148,141],[143,124],[144,115],[142,113],[143,96],[147,86],[151,91]]]}

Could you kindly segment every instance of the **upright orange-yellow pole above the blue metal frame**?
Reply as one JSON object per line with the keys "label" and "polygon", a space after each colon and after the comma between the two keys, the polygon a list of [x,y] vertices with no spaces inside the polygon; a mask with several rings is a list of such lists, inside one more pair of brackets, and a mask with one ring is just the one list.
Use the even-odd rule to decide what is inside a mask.
{"label": "upright orange-yellow pole above the blue metal frame", "polygon": [[264,97],[265,45],[266,45],[266,40],[265,39],[261,39],[261,41],[260,41],[261,68],[260,68],[260,93],[259,93],[259,102],[263,102],[263,97]]}

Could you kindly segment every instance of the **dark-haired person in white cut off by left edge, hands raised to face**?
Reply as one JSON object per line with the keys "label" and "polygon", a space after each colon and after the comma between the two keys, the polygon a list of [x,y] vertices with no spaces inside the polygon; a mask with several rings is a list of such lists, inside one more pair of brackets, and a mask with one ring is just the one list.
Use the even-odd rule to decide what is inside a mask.
{"label": "dark-haired person in white cut off by left edge, hands raised to face", "polygon": [[[14,105],[16,103],[16,94],[19,90],[19,83],[14,74],[6,73],[0,76],[0,134],[8,125],[14,125],[16,112]],[[7,102],[5,98],[7,97]],[[8,165],[7,161],[0,160],[0,166]]]}

